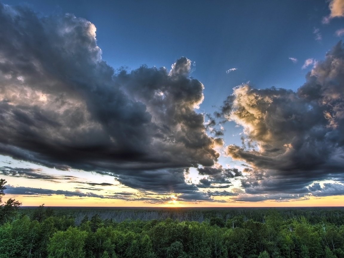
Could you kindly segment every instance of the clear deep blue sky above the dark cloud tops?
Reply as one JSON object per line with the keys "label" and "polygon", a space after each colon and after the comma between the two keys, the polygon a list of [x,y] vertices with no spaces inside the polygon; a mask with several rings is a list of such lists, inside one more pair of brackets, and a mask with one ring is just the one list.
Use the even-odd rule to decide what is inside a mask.
{"label": "clear deep blue sky above the dark cloud tops", "polygon": [[[201,112],[221,106],[233,87],[250,81],[257,88],[296,90],[310,71],[308,58],[323,60],[340,40],[342,19],[322,24],[330,13],[325,0],[232,1],[69,1],[6,0],[42,15],[73,13],[94,23],[103,60],[115,69],[170,65],[180,56],[195,62],[191,76],[204,86]],[[319,29],[322,39],[313,33]],[[297,63],[289,57],[298,59]],[[226,73],[230,68],[236,71]],[[226,126],[226,143],[241,131]],[[230,142],[233,141],[233,142]]]}

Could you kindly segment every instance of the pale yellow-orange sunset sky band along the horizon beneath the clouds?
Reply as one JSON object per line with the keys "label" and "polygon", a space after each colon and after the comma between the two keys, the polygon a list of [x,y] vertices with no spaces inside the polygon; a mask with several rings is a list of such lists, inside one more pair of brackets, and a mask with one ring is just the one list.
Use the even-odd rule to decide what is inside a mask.
{"label": "pale yellow-orange sunset sky band along the horizon beneath the clouds", "polygon": [[[50,172],[49,170],[47,172]],[[51,171],[52,174],[61,173],[62,175],[72,176],[73,171]],[[58,176],[58,174],[57,174]],[[89,174],[87,172],[79,172],[78,174],[79,182],[69,182],[65,184],[61,182],[51,182],[35,179],[23,179],[3,175],[1,176],[7,180],[8,188],[19,187],[21,185],[42,187],[44,189],[50,189],[51,195],[39,195],[32,194],[32,191],[37,191],[40,188],[28,187],[25,191],[27,194],[9,194],[5,191],[5,196],[3,196],[2,201],[6,202],[8,198],[13,198],[22,203],[22,206],[39,206],[44,203],[46,207],[54,206],[70,206],[70,207],[331,207],[331,206],[343,206],[344,195],[336,196],[326,196],[326,197],[316,197],[309,196],[307,200],[304,198],[275,201],[267,200],[261,202],[243,202],[234,201],[238,197],[249,197],[251,195],[245,193],[244,191],[238,192],[237,196],[214,196],[213,201],[184,201],[179,198],[179,194],[170,192],[168,195],[157,195],[153,192],[140,193],[135,189],[127,186],[123,186],[114,180],[112,176],[96,176],[94,174]],[[92,189],[88,188],[88,182],[93,182],[95,185],[102,185],[104,182],[111,183],[108,186],[101,186],[101,189],[94,191],[98,196],[101,197],[90,197],[87,196],[89,191]],[[85,187],[86,186],[86,187]],[[90,185],[92,186],[92,185]],[[71,193],[70,196],[65,196],[63,194],[54,194],[55,191],[64,189],[64,191]],[[39,193],[37,191],[36,193]],[[205,193],[205,192],[204,192]],[[74,195],[85,195],[85,197],[79,197]],[[121,195],[122,194],[122,195]],[[73,196],[72,196],[73,195]],[[116,198],[118,196],[118,198]],[[253,195],[252,195],[253,196]],[[146,197],[146,198],[145,198]],[[136,201],[136,199],[141,199],[141,201]],[[144,201],[151,200],[151,201]]]}

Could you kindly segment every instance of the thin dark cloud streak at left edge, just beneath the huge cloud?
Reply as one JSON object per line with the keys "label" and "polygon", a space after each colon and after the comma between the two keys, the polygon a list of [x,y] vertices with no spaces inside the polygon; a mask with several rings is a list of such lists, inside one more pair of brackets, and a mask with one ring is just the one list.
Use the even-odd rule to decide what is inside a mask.
{"label": "thin dark cloud streak at left edge, just beneath the huge cloud", "polygon": [[30,169],[30,168],[12,168],[10,166],[0,167],[0,174],[13,176],[18,178],[29,178],[29,179],[42,179],[47,181],[56,180],[75,180],[75,176],[67,175],[50,175],[42,172],[42,169]]}

